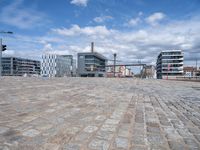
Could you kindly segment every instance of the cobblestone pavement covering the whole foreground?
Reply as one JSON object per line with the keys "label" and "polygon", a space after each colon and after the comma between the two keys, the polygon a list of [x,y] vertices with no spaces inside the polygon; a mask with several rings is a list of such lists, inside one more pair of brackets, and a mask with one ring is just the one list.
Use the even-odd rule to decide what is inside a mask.
{"label": "cobblestone pavement covering the whole foreground", "polygon": [[200,149],[200,83],[0,80],[0,149]]}

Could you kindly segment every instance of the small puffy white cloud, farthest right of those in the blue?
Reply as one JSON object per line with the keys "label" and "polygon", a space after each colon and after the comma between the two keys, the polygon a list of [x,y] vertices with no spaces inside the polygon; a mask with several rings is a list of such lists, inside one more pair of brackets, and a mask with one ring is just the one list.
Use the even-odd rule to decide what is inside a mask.
{"label": "small puffy white cloud, farthest right of those in the blue", "polygon": [[158,22],[162,19],[165,18],[165,14],[162,12],[156,12],[150,15],[149,17],[146,18],[146,22],[149,23],[152,26],[155,26],[158,24]]}

